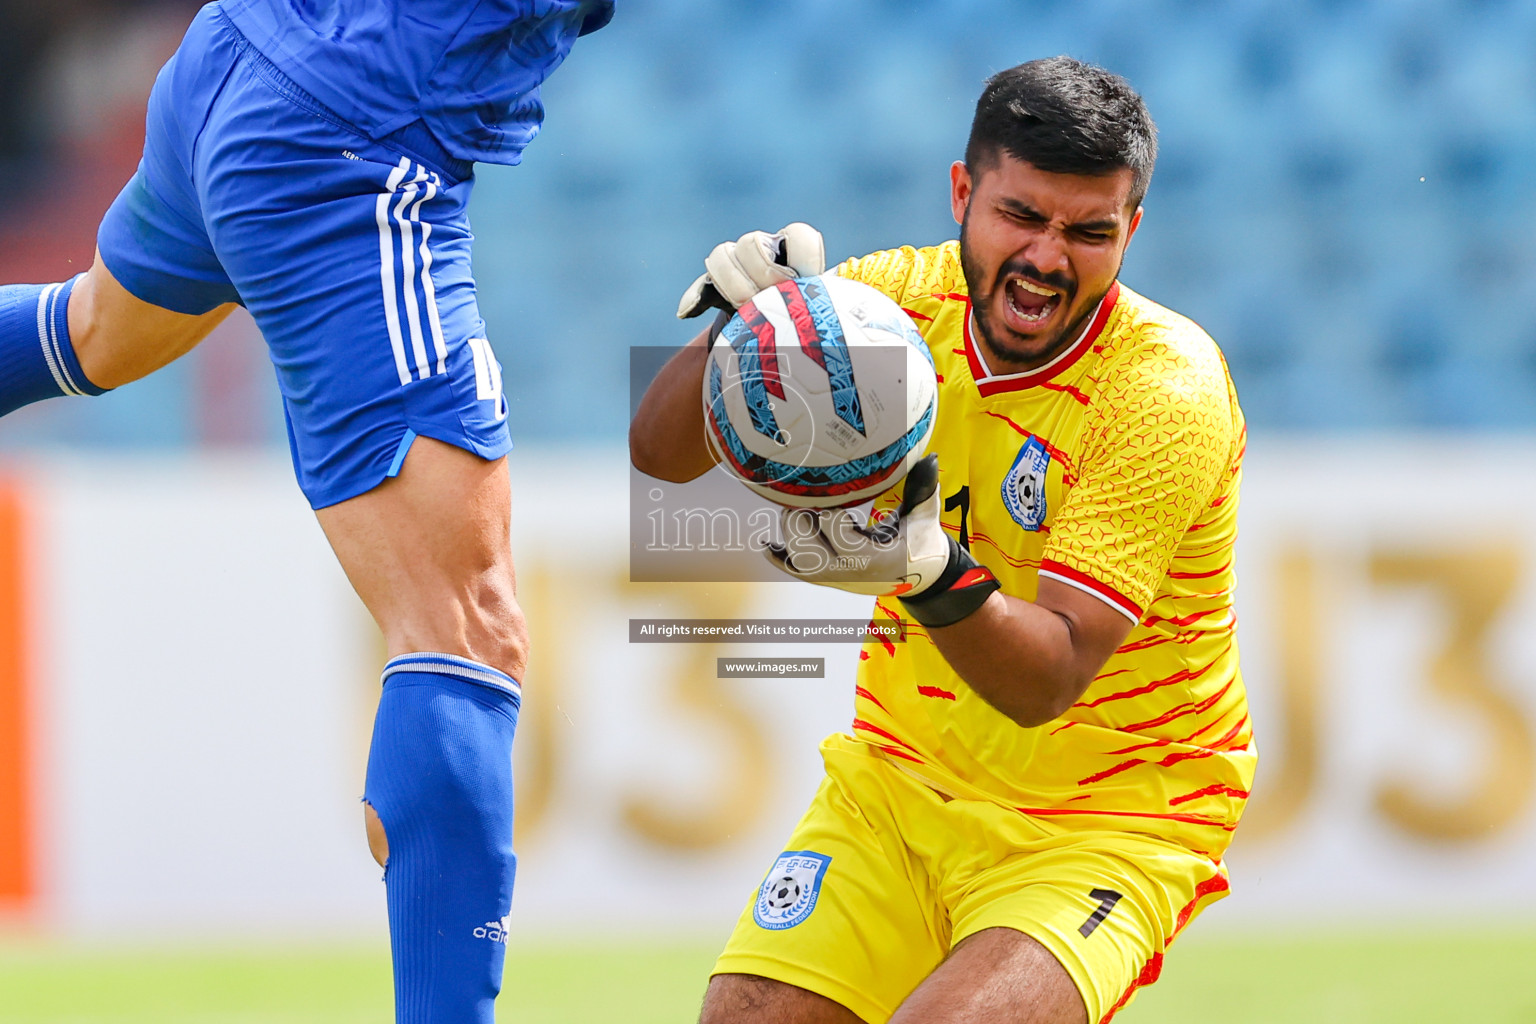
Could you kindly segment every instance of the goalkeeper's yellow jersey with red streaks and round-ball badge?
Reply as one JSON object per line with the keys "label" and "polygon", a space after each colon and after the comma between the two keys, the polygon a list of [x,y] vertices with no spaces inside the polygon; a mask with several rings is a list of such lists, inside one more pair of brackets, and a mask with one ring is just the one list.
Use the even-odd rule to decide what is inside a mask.
{"label": "goalkeeper's yellow jersey with red streaks and round-ball badge", "polygon": [[906,642],[865,643],[854,735],[940,792],[1044,829],[1143,832],[1220,858],[1255,766],[1232,608],[1246,431],[1221,352],[1115,284],[1048,365],[997,375],[971,335],[958,243],[837,273],[895,299],[932,350],[945,530],[1006,594],[1032,600],[1048,576],[1135,623],[1066,714],[1023,728],[880,599]]}

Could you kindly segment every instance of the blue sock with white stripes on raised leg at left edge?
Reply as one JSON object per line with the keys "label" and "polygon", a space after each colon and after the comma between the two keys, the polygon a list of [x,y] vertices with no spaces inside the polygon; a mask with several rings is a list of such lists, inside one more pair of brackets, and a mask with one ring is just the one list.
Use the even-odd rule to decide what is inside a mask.
{"label": "blue sock with white stripes on raised leg at left edge", "polygon": [[60,395],[100,395],[69,344],[71,278],[0,286],[0,416]]}

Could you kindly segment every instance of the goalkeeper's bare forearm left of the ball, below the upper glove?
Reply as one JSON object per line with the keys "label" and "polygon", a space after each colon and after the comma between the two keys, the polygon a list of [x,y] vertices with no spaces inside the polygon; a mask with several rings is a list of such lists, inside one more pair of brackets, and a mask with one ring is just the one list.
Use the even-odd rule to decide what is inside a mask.
{"label": "goalkeeper's bare forearm left of the ball, below the upper glove", "polygon": [[667,361],[645,388],[630,424],[630,462],[641,473],[674,484],[714,465],[703,439],[703,364],[708,330]]}

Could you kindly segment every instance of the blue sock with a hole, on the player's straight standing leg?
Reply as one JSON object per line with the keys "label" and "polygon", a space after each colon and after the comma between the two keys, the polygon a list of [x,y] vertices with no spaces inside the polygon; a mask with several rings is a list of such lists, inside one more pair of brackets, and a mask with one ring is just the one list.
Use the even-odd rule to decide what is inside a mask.
{"label": "blue sock with a hole, on the player's straight standing leg", "polygon": [[396,1024],[495,1021],[518,875],[519,705],[516,680],[468,659],[402,654],[384,666],[362,798],[389,840]]}

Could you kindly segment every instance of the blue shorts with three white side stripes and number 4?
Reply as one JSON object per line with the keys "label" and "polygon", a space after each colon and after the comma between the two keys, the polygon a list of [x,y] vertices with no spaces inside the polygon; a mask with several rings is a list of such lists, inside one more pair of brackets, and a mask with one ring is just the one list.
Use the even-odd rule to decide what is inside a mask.
{"label": "blue shorts with three white side stripes and number 4", "polygon": [[416,436],[511,448],[470,275],[472,186],[468,166],[349,127],[209,5],[155,80],[144,158],[98,246],[146,302],[250,310],[300,487],[324,508],[398,473]]}

